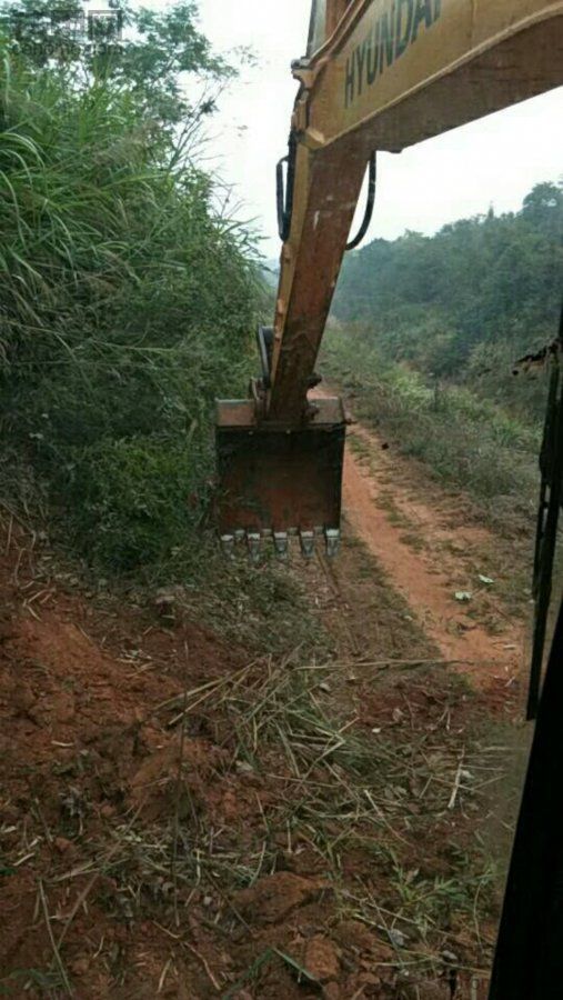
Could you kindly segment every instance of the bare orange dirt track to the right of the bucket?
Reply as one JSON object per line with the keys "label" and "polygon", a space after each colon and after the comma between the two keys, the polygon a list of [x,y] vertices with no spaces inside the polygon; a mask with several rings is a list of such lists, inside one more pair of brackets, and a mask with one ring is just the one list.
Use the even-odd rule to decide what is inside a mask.
{"label": "bare orange dirt track to the right of the bucket", "polygon": [[497,598],[510,583],[497,540],[471,523],[461,498],[418,481],[416,468],[384,444],[360,424],[351,428],[343,502],[352,531],[445,660],[509,680],[522,663],[524,636]]}

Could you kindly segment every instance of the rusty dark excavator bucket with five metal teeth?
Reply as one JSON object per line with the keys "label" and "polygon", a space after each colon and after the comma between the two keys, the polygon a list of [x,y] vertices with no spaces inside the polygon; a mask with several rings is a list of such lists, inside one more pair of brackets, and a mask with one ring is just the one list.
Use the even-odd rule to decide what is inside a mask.
{"label": "rusty dark excavator bucket with five metal teeth", "polygon": [[340,399],[318,399],[308,427],[257,422],[251,400],[220,401],[217,419],[217,519],[223,547],[247,542],[258,558],[271,539],[284,559],[299,534],[305,557],[323,536],[329,556],[340,541],[345,420]]}

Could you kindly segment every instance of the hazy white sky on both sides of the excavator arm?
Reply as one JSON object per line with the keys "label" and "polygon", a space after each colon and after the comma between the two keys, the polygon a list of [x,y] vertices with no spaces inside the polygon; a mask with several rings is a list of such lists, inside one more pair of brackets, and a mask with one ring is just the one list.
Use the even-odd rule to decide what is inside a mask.
{"label": "hazy white sky on both sides of the excavator arm", "polygon": [[[161,0],[145,6],[164,7]],[[310,0],[199,0],[201,27],[219,51],[250,46],[258,59],[221,100],[207,157],[234,186],[239,214],[255,219],[277,256],[274,168],[285,153],[296,84],[291,60],[305,49]],[[563,176],[563,88],[405,150],[379,157],[370,236],[433,232],[463,216],[520,208],[537,181]]]}

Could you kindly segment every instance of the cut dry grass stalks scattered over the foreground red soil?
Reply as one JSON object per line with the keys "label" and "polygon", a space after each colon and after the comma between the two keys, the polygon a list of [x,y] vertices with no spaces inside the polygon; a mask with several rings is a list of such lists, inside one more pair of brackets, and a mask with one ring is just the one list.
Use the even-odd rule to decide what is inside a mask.
{"label": "cut dry grass stalks scattered over the foreground red soil", "polygon": [[[443,673],[436,694],[429,664],[420,660],[354,662],[381,683],[382,699],[400,671],[412,670],[416,690],[433,689],[441,701],[430,717],[405,701],[393,710],[393,724],[361,731],[355,714],[339,710],[333,696],[350,666],[303,667],[299,652],[282,661],[270,657],[161,704],[163,723],[188,751],[194,732],[212,728],[224,756],[209,786],[230,788],[240,811],[222,828],[210,821],[181,749],[179,768],[159,780],[159,793],[170,790],[170,812],[147,823],[141,806],[114,827],[111,843],[92,846],[89,864],[58,877],[89,880],[56,957],[90,893],[127,922],[152,919],[175,933],[198,904],[203,923],[224,941],[241,927],[252,936],[237,892],[305,852],[332,886],[331,919],[355,919],[376,931],[393,949],[398,969],[442,969],[442,952],[458,953],[462,924],[465,953],[485,953],[493,867],[476,850],[433,838],[450,818],[461,832],[489,809],[505,748],[485,746],[460,726],[459,707],[469,696],[445,683]],[[441,872],[433,870],[436,859]],[[115,891],[104,899],[108,879]],[[208,978],[213,981],[211,969]]]}

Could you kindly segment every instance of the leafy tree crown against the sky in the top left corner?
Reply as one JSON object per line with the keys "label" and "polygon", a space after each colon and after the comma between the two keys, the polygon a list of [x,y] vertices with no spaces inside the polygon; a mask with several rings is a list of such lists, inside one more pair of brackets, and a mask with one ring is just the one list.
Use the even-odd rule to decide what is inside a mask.
{"label": "leafy tree crown against the sky in the top left corner", "polygon": [[[84,0],[88,4],[90,0]],[[112,79],[163,127],[214,110],[214,98],[190,101],[188,74],[217,84],[235,73],[198,29],[198,6],[181,0],[164,11],[112,0],[111,17],[88,14],[80,0],[11,0],[0,23],[12,54],[38,71],[49,68],[74,87]]]}

